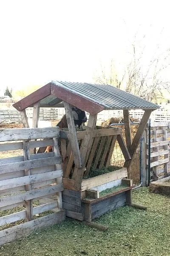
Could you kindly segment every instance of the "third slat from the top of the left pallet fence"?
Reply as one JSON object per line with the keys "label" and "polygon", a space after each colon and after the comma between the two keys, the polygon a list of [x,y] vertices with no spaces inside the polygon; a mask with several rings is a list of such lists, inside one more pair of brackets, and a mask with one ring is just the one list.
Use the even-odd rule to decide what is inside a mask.
{"label": "third slat from the top of the left pallet fence", "polygon": [[42,166],[62,163],[61,157],[49,157],[43,159],[27,160],[17,163],[6,163],[0,165],[0,174],[6,172],[16,172],[23,169],[33,169]]}

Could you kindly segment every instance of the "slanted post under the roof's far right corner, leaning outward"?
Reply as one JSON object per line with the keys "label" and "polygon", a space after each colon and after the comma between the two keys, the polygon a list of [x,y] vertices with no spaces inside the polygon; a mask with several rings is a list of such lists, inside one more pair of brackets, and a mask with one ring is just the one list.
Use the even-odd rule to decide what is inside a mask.
{"label": "slanted post under the roof's far right corner, leaning outward", "polygon": [[144,129],[145,129],[146,125],[147,125],[147,121],[148,121],[152,111],[153,110],[150,110],[150,109],[144,111],[144,115],[143,115],[142,120],[141,120],[141,122],[139,124],[139,127],[138,127],[138,130],[136,132],[136,135],[135,135],[135,137],[133,139],[133,143],[132,143],[132,145],[130,146],[130,149],[129,149],[131,160],[126,160],[125,164],[124,164],[124,167],[129,167],[130,166],[130,163],[133,160],[133,156],[134,156],[134,154],[136,152],[136,149],[137,149],[137,147],[139,145],[139,141],[142,138],[142,134],[144,132]]}

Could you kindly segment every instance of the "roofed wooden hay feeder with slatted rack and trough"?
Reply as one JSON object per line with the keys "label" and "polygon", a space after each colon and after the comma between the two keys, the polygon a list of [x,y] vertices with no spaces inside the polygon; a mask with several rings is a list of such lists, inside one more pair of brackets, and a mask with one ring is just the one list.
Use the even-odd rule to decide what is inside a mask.
{"label": "roofed wooden hay feeder with slatted rack and trough", "polygon": [[[159,108],[156,104],[109,85],[52,81],[14,104],[21,113],[25,127],[28,127],[25,109],[30,106],[34,107],[34,127],[38,125],[40,107],[65,108],[68,131],[61,131],[60,137],[64,183],[62,207],[66,210],[67,216],[81,221],[91,221],[112,209],[131,204],[133,185],[132,180],[127,179],[127,172],[150,113]],[[85,131],[76,132],[73,106],[90,114]],[[144,115],[132,142],[129,110],[136,108],[144,109]],[[123,110],[126,143],[120,128],[97,129],[97,113],[106,109]],[[68,140],[68,145],[65,140]],[[83,179],[88,176],[92,164],[94,169],[97,166],[99,169],[110,166],[116,140],[125,157],[124,168]],[[125,186],[123,189],[99,195],[102,190],[121,184]]]}

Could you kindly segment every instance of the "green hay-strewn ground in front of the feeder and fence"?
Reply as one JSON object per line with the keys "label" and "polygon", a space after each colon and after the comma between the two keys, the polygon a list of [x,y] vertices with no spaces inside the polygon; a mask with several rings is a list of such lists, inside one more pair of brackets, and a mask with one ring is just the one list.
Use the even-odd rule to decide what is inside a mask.
{"label": "green hay-strewn ground in front of the feeder and fence", "polygon": [[146,211],[121,207],[96,222],[105,232],[67,219],[0,247],[1,256],[170,256],[170,197],[133,191]]}

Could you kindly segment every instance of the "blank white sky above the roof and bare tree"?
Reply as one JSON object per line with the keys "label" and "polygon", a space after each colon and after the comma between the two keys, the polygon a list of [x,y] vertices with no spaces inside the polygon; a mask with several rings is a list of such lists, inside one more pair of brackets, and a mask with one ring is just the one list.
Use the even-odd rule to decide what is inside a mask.
{"label": "blank white sky above the roof and bare tree", "polygon": [[170,47],[169,26],[162,0],[0,0],[0,89],[92,82],[99,61],[126,63],[137,31],[146,58]]}

